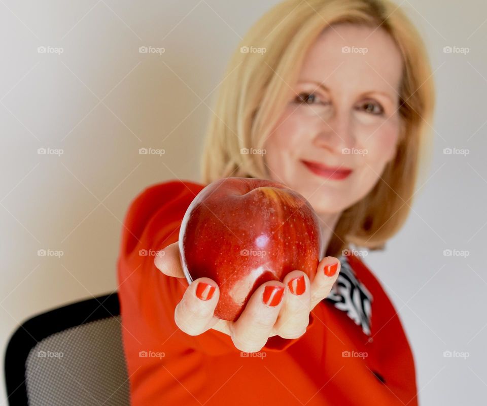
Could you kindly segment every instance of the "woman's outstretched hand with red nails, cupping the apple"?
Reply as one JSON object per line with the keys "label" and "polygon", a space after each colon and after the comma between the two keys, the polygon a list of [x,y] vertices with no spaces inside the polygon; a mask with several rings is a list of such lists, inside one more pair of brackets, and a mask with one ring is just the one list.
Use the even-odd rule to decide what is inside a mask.
{"label": "woman's outstretched hand with red nails, cupping the apple", "polygon": [[[162,251],[164,251],[163,255],[155,256],[156,267],[167,276],[185,278],[178,243],[170,244]],[[333,268],[336,268],[336,272],[332,276],[325,275],[325,270]],[[307,275],[300,270],[293,270],[287,274],[283,282],[265,282],[252,294],[247,306],[235,322],[221,320],[214,316],[220,296],[219,287],[210,278],[198,278],[188,286],[183,298],[177,304],[174,319],[176,325],[189,335],[198,335],[213,328],[228,334],[240,351],[259,351],[264,347],[267,339],[274,335],[284,339],[296,339],[304,334],[309,323],[309,312],[328,296],[339,272],[340,261],[334,257],[325,257],[320,261],[316,276],[311,283]],[[301,285],[304,282],[305,289],[298,295],[292,293],[288,283],[300,277],[302,277]],[[202,299],[196,295],[199,283],[210,285],[204,290]],[[297,281],[291,282],[291,285],[296,286]],[[278,299],[282,292],[279,303],[270,303],[274,306],[267,306],[263,302],[264,290],[268,286],[271,288],[267,291],[272,287],[277,289],[273,295],[275,299]],[[213,296],[204,300],[207,298],[205,293],[210,290],[213,290]]]}

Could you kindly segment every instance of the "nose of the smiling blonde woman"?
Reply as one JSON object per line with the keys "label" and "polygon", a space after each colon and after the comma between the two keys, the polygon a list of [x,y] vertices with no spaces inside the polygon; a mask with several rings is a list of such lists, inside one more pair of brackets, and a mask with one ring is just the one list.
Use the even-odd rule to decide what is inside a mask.
{"label": "nose of the smiling blonde woman", "polygon": [[354,147],[354,124],[350,111],[334,109],[327,118],[320,118],[319,132],[314,139],[315,146],[336,154],[341,154],[343,148]]}

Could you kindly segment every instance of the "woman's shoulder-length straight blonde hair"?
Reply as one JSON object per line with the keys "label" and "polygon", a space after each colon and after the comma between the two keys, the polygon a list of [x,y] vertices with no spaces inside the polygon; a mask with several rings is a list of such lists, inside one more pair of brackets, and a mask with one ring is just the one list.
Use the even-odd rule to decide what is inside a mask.
{"label": "woman's shoulder-length straight blonde hair", "polygon": [[263,148],[288,103],[286,83],[296,82],[308,48],[323,29],[338,23],[385,29],[402,54],[403,77],[396,157],[372,190],[342,212],[326,250],[332,256],[350,244],[384,249],[409,214],[420,161],[429,157],[428,120],[435,103],[431,66],[419,32],[398,6],[388,0],[287,0],[268,11],[230,59],[201,167],[205,184],[223,177],[267,177],[263,156],[241,149]]}

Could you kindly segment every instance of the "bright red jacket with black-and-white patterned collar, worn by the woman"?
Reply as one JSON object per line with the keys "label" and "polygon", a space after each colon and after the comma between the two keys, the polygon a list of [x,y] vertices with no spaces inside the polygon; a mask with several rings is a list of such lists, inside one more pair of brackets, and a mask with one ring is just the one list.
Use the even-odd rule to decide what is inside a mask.
{"label": "bright red jacket with black-and-white patterned collar, worn by the woman", "polygon": [[298,339],[274,336],[247,354],[219,331],[191,336],[177,327],[174,309],[188,284],[162,274],[154,253],[178,241],[202,188],[153,185],[125,216],[118,284],[131,404],[417,405],[414,361],[397,312],[353,253],[340,257],[332,293]]}

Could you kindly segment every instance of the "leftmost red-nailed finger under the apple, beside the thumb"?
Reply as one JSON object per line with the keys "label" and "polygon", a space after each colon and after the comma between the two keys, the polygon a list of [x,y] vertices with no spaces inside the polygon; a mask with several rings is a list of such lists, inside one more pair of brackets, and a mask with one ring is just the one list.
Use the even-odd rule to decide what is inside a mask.
{"label": "leftmost red-nailed finger under the apple, beside the thumb", "polygon": [[176,325],[189,335],[198,335],[212,328],[218,321],[213,316],[220,290],[210,278],[193,281],[174,311]]}

